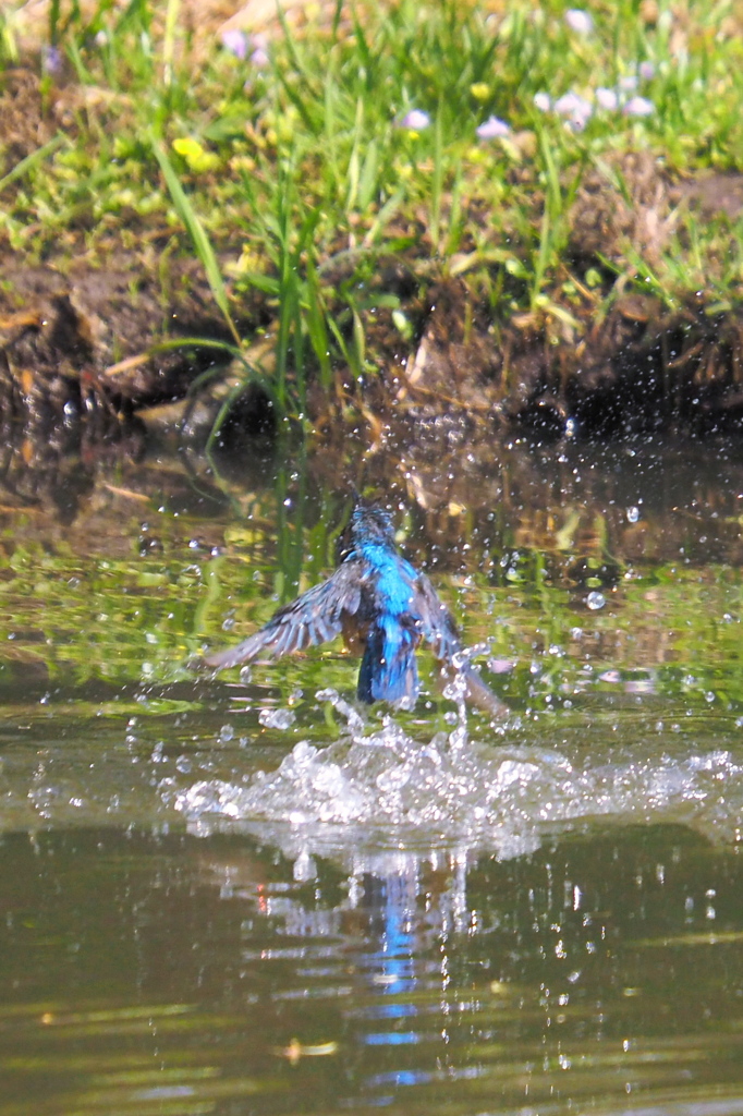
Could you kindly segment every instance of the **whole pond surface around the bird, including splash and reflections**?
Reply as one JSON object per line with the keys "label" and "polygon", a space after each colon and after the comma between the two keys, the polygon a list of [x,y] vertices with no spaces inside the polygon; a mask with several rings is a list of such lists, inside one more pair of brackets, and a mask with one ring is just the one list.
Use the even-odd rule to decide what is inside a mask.
{"label": "whole pond surface around the bird, including splash and reflections", "polygon": [[[0,1116],[743,1114],[743,445],[19,448]],[[499,725],[221,676],[394,509]]]}

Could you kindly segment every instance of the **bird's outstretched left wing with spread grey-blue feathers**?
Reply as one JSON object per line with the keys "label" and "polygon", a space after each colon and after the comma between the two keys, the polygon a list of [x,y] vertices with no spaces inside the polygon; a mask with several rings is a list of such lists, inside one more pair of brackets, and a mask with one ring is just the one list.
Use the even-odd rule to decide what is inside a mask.
{"label": "bird's outstretched left wing with spread grey-blue feathers", "polygon": [[335,639],[342,629],[344,616],[354,616],[359,609],[361,575],[357,562],[344,562],[327,581],[279,608],[259,632],[248,636],[237,647],[204,656],[204,662],[221,670],[262,655],[280,658],[326,639]]}

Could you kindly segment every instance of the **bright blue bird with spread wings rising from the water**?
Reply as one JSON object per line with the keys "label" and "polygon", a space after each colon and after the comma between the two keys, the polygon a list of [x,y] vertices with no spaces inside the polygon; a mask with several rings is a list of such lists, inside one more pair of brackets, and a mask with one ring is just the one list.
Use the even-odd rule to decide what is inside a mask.
{"label": "bright blue bird with spread wings rising from the water", "polygon": [[452,615],[426,575],[399,554],[390,513],[378,504],[357,502],[349,535],[340,565],[326,581],[283,605],[235,647],[205,655],[203,663],[222,670],[280,658],[342,635],[349,647],[361,652],[358,700],[412,708],[421,690],[415,653],[425,642],[445,680],[460,674],[473,704],[504,718],[508,706],[477,670],[466,658],[455,663],[464,648]]}

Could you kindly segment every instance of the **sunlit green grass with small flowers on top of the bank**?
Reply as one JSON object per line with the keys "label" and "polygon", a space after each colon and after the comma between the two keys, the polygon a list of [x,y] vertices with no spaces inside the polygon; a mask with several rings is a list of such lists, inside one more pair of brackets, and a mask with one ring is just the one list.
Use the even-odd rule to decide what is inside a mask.
{"label": "sunlit green grass with small flowers on top of the bank", "polygon": [[[255,339],[248,296],[268,300],[271,391],[284,413],[306,412],[313,379],[329,394],[338,369],[351,384],[377,374],[380,326],[409,348],[409,307],[379,278],[390,261],[418,292],[459,275],[494,328],[529,315],[556,341],[609,305],[617,278],[670,307],[701,288],[736,307],[734,221],[682,212],[652,260],[631,246],[615,246],[610,267],[568,253],[582,176],[597,166],[616,176],[623,152],[649,150],[679,176],[739,169],[735,4],[660,0],[644,22],[634,0],[590,3],[589,35],[570,29],[567,8],[338,3],[324,29],[298,37],[284,26],[266,65],[250,45],[241,60],[215,41],[194,70],[175,0],[118,11],[100,0],[87,22],[58,0],[49,44],[89,96],[70,98],[64,132],[4,166],[0,238],[42,258],[99,252],[112,238],[136,247],[152,228],[172,229],[201,259],[238,346]],[[6,65],[18,57],[15,20],[12,7],[0,16]],[[598,88],[635,78],[623,95],[648,99],[649,115],[596,107]],[[54,76],[44,81],[49,96]],[[534,105],[537,94],[569,92],[594,105],[582,129]],[[430,125],[404,127],[412,109]],[[479,140],[492,115],[510,134]]]}

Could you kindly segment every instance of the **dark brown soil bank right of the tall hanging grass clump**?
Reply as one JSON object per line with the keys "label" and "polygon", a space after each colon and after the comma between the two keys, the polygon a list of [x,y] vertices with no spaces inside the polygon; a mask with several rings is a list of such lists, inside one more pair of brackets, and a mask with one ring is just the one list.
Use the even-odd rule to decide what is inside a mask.
{"label": "dark brown soil bank right of the tall hanging grass clump", "polygon": [[456,283],[434,288],[431,302],[421,340],[382,404],[387,414],[459,412],[540,440],[743,425],[743,320],[710,316],[702,299],[672,314],[649,296],[626,295],[558,346],[525,316],[500,337],[472,328]]}

